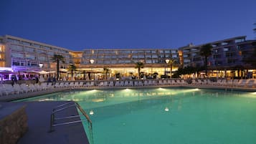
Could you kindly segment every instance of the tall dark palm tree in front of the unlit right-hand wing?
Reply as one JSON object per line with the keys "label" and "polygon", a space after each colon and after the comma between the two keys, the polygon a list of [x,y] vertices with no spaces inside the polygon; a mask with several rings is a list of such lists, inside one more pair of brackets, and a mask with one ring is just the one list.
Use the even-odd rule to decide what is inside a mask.
{"label": "tall dark palm tree in front of the unlit right-hand wing", "polygon": [[208,57],[212,55],[212,44],[205,44],[200,49],[200,55],[204,57],[205,75],[207,75]]}

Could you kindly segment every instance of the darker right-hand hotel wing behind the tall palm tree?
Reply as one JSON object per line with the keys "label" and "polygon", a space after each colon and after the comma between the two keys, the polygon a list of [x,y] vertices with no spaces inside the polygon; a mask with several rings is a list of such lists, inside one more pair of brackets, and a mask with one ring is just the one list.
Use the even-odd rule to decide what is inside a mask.
{"label": "darker right-hand hotel wing behind the tall palm tree", "polygon": [[[232,71],[237,69],[255,69],[251,64],[246,64],[244,58],[253,53],[255,46],[252,44],[256,40],[247,41],[245,38],[245,36],[242,36],[208,42],[207,44],[212,44],[213,47],[212,55],[209,57],[207,64],[209,69],[221,70],[225,77],[245,75],[245,72],[238,74],[238,71],[236,71],[237,74],[232,75]],[[204,65],[204,59],[199,54],[203,45],[189,44],[179,48],[179,51],[182,52],[181,64],[183,67],[202,67]]]}

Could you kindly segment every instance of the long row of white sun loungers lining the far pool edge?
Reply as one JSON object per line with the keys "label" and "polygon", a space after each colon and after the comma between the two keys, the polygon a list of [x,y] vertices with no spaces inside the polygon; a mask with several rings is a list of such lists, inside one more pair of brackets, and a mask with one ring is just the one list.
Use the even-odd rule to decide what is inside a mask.
{"label": "long row of white sun loungers lining the far pool edge", "polygon": [[151,86],[151,85],[203,85],[203,86],[223,86],[223,87],[256,87],[256,80],[120,80],[120,81],[80,81],[80,82],[42,82],[41,84],[1,84],[1,95],[14,95],[27,92],[36,92],[41,90],[51,90],[53,88],[77,88],[77,87],[138,87],[138,86]]}

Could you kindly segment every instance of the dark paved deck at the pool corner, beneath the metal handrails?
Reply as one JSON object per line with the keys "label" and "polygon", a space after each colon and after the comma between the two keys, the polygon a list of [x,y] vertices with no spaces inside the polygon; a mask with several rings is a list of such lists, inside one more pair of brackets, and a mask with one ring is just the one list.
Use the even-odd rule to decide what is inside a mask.
{"label": "dark paved deck at the pool corner, beneath the metal handrails", "polygon": [[[61,125],[48,133],[52,109],[65,102],[0,102],[1,107],[27,105],[29,130],[17,144],[89,144],[82,123]],[[58,113],[58,117],[77,115],[75,107]]]}

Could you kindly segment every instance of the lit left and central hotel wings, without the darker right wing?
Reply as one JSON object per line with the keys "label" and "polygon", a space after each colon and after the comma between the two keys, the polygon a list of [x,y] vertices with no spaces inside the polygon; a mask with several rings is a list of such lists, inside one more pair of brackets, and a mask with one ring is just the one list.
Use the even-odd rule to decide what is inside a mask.
{"label": "lit left and central hotel wings, without the darker right wing", "polygon": [[9,35],[0,37],[0,48],[2,69],[11,67],[14,72],[55,75],[56,63],[52,62],[52,57],[54,54],[60,54],[65,57],[65,62],[60,63],[60,77],[70,77],[67,67],[75,64],[75,77],[78,80],[92,74],[101,77],[104,67],[110,69],[110,77],[116,73],[124,77],[138,75],[136,62],[144,63],[141,72],[145,75],[155,72],[164,75],[170,71],[166,59],[176,59],[176,62],[179,62],[178,49],[84,49],[75,52]]}

